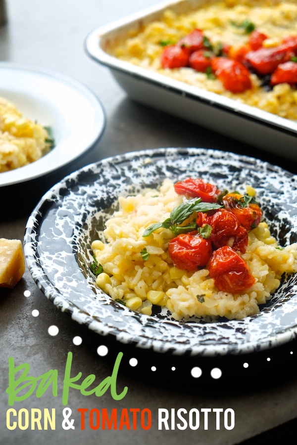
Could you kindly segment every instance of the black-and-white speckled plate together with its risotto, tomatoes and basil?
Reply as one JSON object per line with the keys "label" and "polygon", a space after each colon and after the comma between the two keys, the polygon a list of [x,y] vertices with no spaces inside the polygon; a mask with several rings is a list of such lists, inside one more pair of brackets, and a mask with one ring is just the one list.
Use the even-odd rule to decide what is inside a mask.
{"label": "black-and-white speckled plate together with its risotto, tomatoes and basil", "polygon": [[297,332],[296,180],[216,150],[107,158],[44,196],[26,259],[49,300],[99,334],[179,355],[270,348]]}

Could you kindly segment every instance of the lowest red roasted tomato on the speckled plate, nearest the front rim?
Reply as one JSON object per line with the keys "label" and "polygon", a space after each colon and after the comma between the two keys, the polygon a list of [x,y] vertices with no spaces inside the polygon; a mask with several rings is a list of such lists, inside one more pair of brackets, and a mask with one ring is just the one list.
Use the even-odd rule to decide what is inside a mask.
{"label": "lowest red roasted tomato on the speckled plate, nearest the front rim", "polygon": [[245,260],[229,246],[214,251],[209,276],[220,291],[231,294],[244,292],[255,282]]}

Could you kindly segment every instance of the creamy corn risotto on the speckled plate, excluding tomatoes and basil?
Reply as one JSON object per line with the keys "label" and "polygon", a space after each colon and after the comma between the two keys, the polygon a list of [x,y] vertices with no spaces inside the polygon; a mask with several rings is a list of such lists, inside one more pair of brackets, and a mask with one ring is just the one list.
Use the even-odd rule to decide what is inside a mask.
{"label": "creamy corn risotto on the speckled plate, excluding tomatoes and basil", "polygon": [[[255,283],[240,294],[218,291],[207,268],[189,272],[172,264],[168,243],[174,235],[169,229],[143,237],[146,228],[166,220],[182,201],[169,179],[159,190],[119,198],[120,210],[106,222],[106,239],[92,243],[103,267],[97,277],[99,287],[119,303],[148,315],[152,303],[166,306],[175,319],[192,315],[241,319],[259,312],[258,305],[270,299],[282,274],[297,271],[297,244],[280,248],[261,222],[249,232],[242,254]],[[143,258],[144,251],[149,255]]]}

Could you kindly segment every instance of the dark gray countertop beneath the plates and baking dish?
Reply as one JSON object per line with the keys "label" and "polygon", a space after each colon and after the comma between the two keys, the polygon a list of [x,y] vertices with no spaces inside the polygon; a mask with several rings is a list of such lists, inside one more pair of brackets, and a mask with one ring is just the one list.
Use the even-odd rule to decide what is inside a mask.
{"label": "dark gray countertop beneath the plates and baking dish", "polygon": [[[153,2],[150,0],[94,1],[85,0],[8,0],[8,23],[0,28],[1,60],[50,68],[82,82],[99,97],[107,117],[105,132],[96,146],[71,166],[21,186],[0,189],[0,237],[23,239],[26,221],[42,194],[71,171],[96,162],[104,157],[146,148],[158,147],[205,147],[255,156],[272,164],[297,173],[297,164],[243,143],[205,130],[188,122],[166,115],[131,101],[118,87],[109,71],[88,58],[84,52],[84,39],[100,24],[122,17]],[[24,199],[25,197],[25,199]],[[4,204],[3,204],[4,203]],[[24,295],[30,291],[30,296]],[[37,317],[32,311],[38,310]],[[58,327],[58,335],[48,334],[51,325]],[[148,351],[136,350],[113,339],[100,337],[59,312],[38,289],[28,269],[13,290],[0,290],[0,443],[1,444],[81,444],[97,441],[116,444],[238,444],[297,416],[297,380],[294,373],[296,342],[273,351],[247,357],[224,359],[195,359],[191,357],[166,357]],[[73,338],[80,336],[82,344],[75,346]],[[108,347],[107,356],[100,357],[97,348]],[[111,375],[119,352],[123,359],[117,377],[117,391],[125,386],[127,395],[120,401],[112,399],[106,391],[101,397],[82,395],[71,389],[69,408],[75,419],[75,430],[62,428],[62,387],[68,352],[73,353],[71,376],[79,372],[83,378],[97,376],[99,384]],[[293,354],[291,354],[293,352]],[[268,362],[267,357],[271,360]],[[8,357],[15,366],[30,365],[28,376],[38,377],[50,369],[58,371],[57,396],[49,389],[41,398],[35,394],[15,403],[14,408],[55,408],[56,427],[45,431],[26,430],[18,427],[8,430],[6,411],[9,408]],[[129,365],[131,357],[138,358],[138,366]],[[243,363],[249,367],[243,372]],[[156,366],[155,373],[151,366]],[[189,379],[183,372],[199,365],[201,379]],[[169,367],[170,366],[170,367]],[[177,372],[170,371],[176,366]],[[223,371],[221,379],[209,377],[213,367]],[[238,373],[237,373],[238,369]],[[230,377],[230,378],[228,378]],[[236,379],[236,377],[239,377]],[[127,430],[93,430],[86,417],[86,428],[81,429],[78,408],[148,408],[152,413],[152,425],[148,430],[141,427]],[[198,430],[158,430],[158,409],[177,411],[185,408],[200,410]],[[216,429],[214,413],[209,415],[208,429],[204,428],[202,408],[232,408],[235,427]],[[178,423],[178,419],[176,419]]]}

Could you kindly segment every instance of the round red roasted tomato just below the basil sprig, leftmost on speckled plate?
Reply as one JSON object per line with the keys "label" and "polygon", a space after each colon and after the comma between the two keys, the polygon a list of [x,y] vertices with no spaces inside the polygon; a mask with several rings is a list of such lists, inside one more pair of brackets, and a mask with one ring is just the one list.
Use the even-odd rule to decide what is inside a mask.
{"label": "round red roasted tomato just below the basil sprig, leftmost on speckled plate", "polygon": [[179,269],[197,270],[211,258],[211,241],[202,238],[197,231],[183,233],[169,242],[168,254]]}

